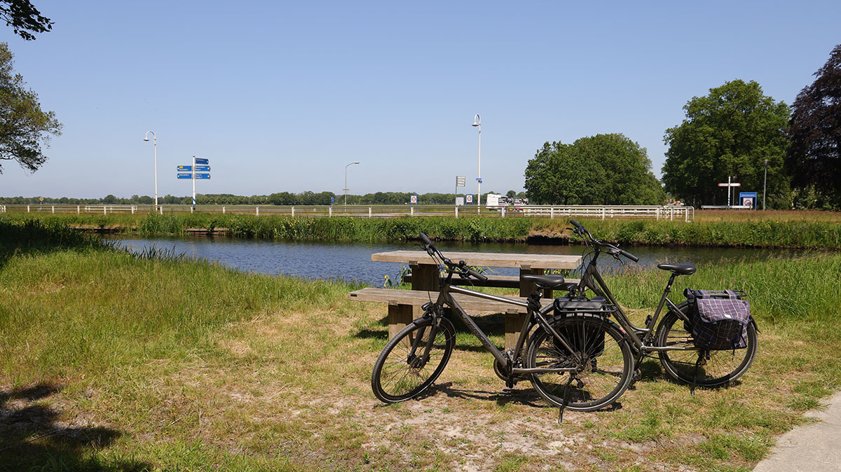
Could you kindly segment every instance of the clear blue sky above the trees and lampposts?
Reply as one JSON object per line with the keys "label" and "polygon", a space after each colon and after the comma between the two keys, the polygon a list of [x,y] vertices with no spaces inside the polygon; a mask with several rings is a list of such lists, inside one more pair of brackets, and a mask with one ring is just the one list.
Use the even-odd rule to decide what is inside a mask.
{"label": "clear blue sky above the trees and lampposts", "polygon": [[[694,96],[758,81],[791,102],[841,43],[841,2],[59,2],[15,69],[64,123],[2,196],[520,191],[546,141],[622,133],[659,176]],[[833,34],[833,31],[835,32]],[[461,189],[460,189],[461,190]]]}

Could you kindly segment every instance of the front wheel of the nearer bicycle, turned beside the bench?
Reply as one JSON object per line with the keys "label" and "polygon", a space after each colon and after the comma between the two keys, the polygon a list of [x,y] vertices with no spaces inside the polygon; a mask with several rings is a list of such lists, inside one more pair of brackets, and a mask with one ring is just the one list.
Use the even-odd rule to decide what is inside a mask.
{"label": "front wheel of the nearer bicycle, turned beside the bench", "polygon": [[439,318],[437,326],[407,325],[373,364],[373,394],[386,403],[420,395],[441,375],[455,344],[456,330],[447,318]]}

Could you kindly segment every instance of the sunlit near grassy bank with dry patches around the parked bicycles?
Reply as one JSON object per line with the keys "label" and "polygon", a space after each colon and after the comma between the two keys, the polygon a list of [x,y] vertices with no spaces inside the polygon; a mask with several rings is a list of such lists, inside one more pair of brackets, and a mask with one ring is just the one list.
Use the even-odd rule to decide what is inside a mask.
{"label": "sunlit near grassy bank with dry patches around the parked bicycles", "polygon": [[[748,470],[841,387],[841,255],[722,265],[675,292],[748,291],[759,355],[696,391],[659,364],[621,408],[544,406],[506,390],[466,328],[420,401],[370,392],[386,309],[354,286],[131,256],[30,223],[0,266],[0,470]],[[0,222],[2,236],[19,228]],[[639,322],[666,277],[610,277]],[[499,316],[480,317],[502,344]]]}

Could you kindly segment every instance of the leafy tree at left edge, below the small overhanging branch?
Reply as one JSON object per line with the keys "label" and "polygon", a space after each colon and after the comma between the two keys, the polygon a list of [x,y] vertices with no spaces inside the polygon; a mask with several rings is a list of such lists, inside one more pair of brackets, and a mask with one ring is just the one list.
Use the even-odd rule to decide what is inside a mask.
{"label": "leafy tree at left edge, below the small overhanging branch", "polygon": [[0,43],[0,160],[16,160],[34,172],[47,160],[41,144],[49,144],[50,134],[61,134],[61,123],[55,113],[41,110],[38,95],[24,88],[24,77],[12,65],[12,52]]}

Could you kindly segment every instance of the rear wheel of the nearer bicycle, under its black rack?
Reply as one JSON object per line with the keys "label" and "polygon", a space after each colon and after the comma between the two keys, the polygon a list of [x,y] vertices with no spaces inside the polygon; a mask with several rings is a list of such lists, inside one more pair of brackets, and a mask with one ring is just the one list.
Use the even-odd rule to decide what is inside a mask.
{"label": "rear wheel of the nearer bicycle, under its black rack", "polygon": [[[532,386],[544,400],[553,406],[591,412],[611,405],[625,393],[631,384],[634,359],[627,335],[616,323],[595,315],[555,317],[549,323],[576,353],[586,355],[587,359],[574,374],[559,372],[530,375]],[[574,339],[567,339],[564,333],[578,334]],[[602,335],[604,344],[598,341]],[[527,368],[573,367],[577,363],[563,344],[558,343],[544,329],[538,329],[530,339],[526,354]]]}

